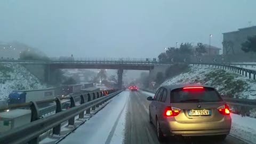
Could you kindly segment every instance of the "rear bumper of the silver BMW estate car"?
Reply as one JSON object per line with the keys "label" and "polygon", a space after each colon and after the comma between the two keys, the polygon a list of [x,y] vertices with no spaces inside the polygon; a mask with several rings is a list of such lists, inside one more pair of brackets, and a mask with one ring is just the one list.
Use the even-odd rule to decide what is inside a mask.
{"label": "rear bumper of the silver BMW estate car", "polygon": [[163,122],[161,129],[164,135],[202,136],[229,134],[231,119],[223,118],[218,122],[179,123],[176,121]]}

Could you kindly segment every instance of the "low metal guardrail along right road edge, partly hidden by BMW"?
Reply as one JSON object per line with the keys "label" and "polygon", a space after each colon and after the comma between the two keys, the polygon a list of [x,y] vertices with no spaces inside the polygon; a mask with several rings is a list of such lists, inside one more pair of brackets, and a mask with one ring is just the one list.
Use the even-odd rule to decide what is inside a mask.
{"label": "low metal guardrail along right road edge, partly hidden by BMW", "polygon": [[[142,91],[146,91],[146,92],[150,92],[150,93],[155,93],[156,92],[156,91],[147,90],[147,89],[142,89]],[[222,97],[222,99],[225,100],[230,105],[256,107],[256,100],[225,98],[225,97]]]}

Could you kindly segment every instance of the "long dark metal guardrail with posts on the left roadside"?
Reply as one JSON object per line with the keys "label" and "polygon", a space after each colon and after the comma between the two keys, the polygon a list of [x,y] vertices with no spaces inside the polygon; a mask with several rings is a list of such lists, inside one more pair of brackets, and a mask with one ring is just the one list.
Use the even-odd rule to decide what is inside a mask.
{"label": "long dark metal guardrail with posts on the left roadside", "polygon": [[[90,114],[91,110],[95,110],[102,103],[115,97],[115,95],[121,93],[123,90],[106,90],[92,93],[87,93],[88,99],[85,102],[84,95],[70,96],[70,109],[62,110],[60,98],[21,103],[20,105],[12,105],[0,110],[19,108],[23,106],[30,106],[31,108],[31,123],[23,125],[0,135],[0,143],[39,143],[39,135],[53,129],[53,134],[60,134],[61,123],[68,121],[68,125],[75,124],[75,116],[79,115],[79,118],[84,118],[84,113]],[[75,97],[81,97],[80,105],[75,105]],[[66,99],[66,98],[63,98]],[[45,118],[39,118],[38,103],[56,102],[55,114]]]}

